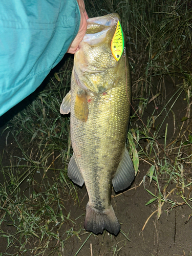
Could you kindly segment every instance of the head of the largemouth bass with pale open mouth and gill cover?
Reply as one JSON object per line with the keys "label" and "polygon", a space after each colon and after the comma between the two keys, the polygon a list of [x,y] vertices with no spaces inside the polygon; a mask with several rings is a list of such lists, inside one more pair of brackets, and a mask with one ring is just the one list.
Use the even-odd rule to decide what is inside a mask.
{"label": "head of the largemouth bass with pale open mouth and gill cover", "polygon": [[88,19],[86,35],[74,56],[75,81],[80,88],[94,95],[116,86],[121,76],[123,58],[117,61],[111,51],[119,19],[117,13]]}

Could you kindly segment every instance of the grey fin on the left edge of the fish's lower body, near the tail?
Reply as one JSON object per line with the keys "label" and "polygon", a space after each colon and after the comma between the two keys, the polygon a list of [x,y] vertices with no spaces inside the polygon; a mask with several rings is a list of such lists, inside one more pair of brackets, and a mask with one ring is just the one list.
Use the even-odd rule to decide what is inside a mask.
{"label": "grey fin on the left edge of the fish's lower body, near the tail", "polygon": [[72,156],[68,165],[68,176],[74,183],[76,183],[80,187],[83,185],[84,180],[74,155]]}

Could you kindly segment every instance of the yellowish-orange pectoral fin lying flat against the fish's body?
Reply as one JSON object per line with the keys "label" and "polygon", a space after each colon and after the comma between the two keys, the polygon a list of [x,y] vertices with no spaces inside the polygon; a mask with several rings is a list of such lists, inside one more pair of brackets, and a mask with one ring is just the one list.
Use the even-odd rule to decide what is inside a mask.
{"label": "yellowish-orange pectoral fin lying flat against the fish's body", "polygon": [[86,93],[83,90],[76,95],[74,112],[77,119],[87,122],[89,110]]}

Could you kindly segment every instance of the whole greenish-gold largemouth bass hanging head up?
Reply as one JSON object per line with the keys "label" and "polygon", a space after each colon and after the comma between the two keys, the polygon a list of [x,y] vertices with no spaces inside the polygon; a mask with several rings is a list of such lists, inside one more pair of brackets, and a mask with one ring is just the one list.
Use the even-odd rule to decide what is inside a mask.
{"label": "whole greenish-gold largemouth bass hanging head up", "polygon": [[[71,90],[60,106],[70,116],[73,156],[69,178],[86,185],[89,202],[84,228],[117,235],[120,224],[111,204],[112,184],[130,186],[135,170],[126,148],[130,119],[131,78],[127,54],[115,59],[111,42],[117,13],[87,20],[86,35],[74,55]],[[122,43],[122,38],[121,38]]]}

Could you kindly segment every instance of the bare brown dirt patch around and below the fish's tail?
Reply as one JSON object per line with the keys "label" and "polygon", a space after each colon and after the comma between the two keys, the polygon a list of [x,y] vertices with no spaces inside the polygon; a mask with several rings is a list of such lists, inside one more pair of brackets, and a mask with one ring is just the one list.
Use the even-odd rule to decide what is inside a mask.
{"label": "bare brown dirt patch around and below the fish's tail", "polygon": [[[139,185],[145,174],[145,166],[143,172],[141,172],[136,178],[134,185]],[[86,190],[83,187],[82,191],[79,191],[83,198],[86,194]],[[113,193],[114,195],[114,193]],[[91,255],[89,244],[92,243],[93,255],[126,255],[126,256],[150,256],[150,255],[192,255],[191,236],[192,228],[191,223],[185,225],[187,217],[191,213],[189,208],[175,208],[170,213],[163,209],[162,215],[157,221],[157,213],[155,213],[147,222],[143,231],[143,225],[148,217],[157,209],[157,205],[145,206],[145,203],[151,199],[151,196],[144,190],[143,185],[129,190],[126,193],[113,198],[112,205],[116,212],[117,218],[121,223],[121,229],[127,234],[130,241],[127,241],[122,233],[119,233],[117,237],[110,237],[109,233],[103,235],[91,236],[88,240],[87,246],[83,247],[79,252],[79,255]],[[177,196],[175,196],[177,200]],[[81,214],[86,209],[86,203],[88,198],[84,198],[83,205],[80,207]],[[73,211],[71,211],[71,217],[74,219],[79,215],[79,206],[74,205]],[[80,225],[83,225],[83,218],[80,218]],[[79,241],[77,237],[73,238],[72,250],[67,255],[74,255],[76,248],[80,247],[81,243],[86,240],[89,234],[81,237],[82,241]],[[71,245],[72,245],[71,244]],[[113,247],[117,246],[119,250],[118,254],[113,254]]]}

